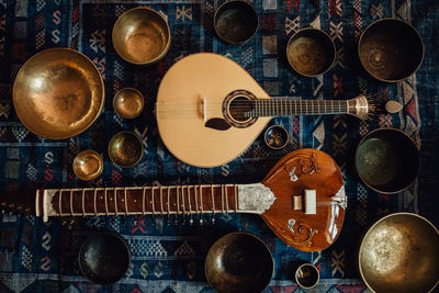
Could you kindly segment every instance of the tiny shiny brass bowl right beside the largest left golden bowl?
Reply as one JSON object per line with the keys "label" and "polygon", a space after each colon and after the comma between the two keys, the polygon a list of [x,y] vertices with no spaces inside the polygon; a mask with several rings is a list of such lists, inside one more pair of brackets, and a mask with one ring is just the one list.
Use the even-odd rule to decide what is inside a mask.
{"label": "tiny shiny brass bowl right beside the largest left golden bowl", "polygon": [[113,109],[123,119],[137,117],[144,109],[144,95],[136,89],[125,88],[116,92]]}

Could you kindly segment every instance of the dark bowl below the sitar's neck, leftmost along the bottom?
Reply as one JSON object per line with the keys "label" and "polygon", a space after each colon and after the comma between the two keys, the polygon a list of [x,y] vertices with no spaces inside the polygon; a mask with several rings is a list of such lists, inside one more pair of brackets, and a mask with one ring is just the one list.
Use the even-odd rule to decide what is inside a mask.
{"label": "dark bowl below the sitar's neck, leftmost along the bottom", "polygon": [[79,249],[78,263],[83,277],[98,284],[111,284],[125,275],[131,252],[125,240],[114,233],[90,236]]}

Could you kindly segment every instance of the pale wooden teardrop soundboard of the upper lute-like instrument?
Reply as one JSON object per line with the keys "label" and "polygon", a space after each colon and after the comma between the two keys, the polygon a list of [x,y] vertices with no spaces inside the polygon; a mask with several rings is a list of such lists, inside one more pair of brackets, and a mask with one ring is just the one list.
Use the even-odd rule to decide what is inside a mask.
{"label": "pale wooden teardrop soundboard of the upper lute-like instrument", "polygon": [[192,166],[216,167],[246,150],[270,117],[247,127],[205,126],[224,117],[223,101],[235,90],[270,99],[244,68],[222,55],[199,53],[176,63],[161,80],[156,102],[158,131],[169,151]]}

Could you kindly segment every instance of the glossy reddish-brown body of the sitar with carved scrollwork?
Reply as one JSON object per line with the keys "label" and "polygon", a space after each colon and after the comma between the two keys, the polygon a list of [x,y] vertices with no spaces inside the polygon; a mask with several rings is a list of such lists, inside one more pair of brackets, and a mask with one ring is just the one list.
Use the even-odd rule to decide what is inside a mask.
{"label": "glossy reddish-brown body of the sitar with carved scrollwork", "polygon": [[[303,251],[318,251],[336,240],[347,199],[341,173],[331,157],[315,149],[295,150],[283,157],[262,183],[277,199],[261,216],[279,238]],[[305,190],[316,191],[315,214],[294,210],[294,195],[303,195]]]}

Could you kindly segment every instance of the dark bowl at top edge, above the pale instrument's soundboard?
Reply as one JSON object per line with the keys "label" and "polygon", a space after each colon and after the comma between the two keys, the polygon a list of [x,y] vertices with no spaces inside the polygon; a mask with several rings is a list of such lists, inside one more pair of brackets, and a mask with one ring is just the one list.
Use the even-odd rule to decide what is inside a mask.
{"label": "dark bowl at top edge, above the pale instrument's soundboard", "polygon": [[215,11],[213,24],[224,42],[244,44],[258,31],[259,18],[252,5],[244,1],[229,1]]}

